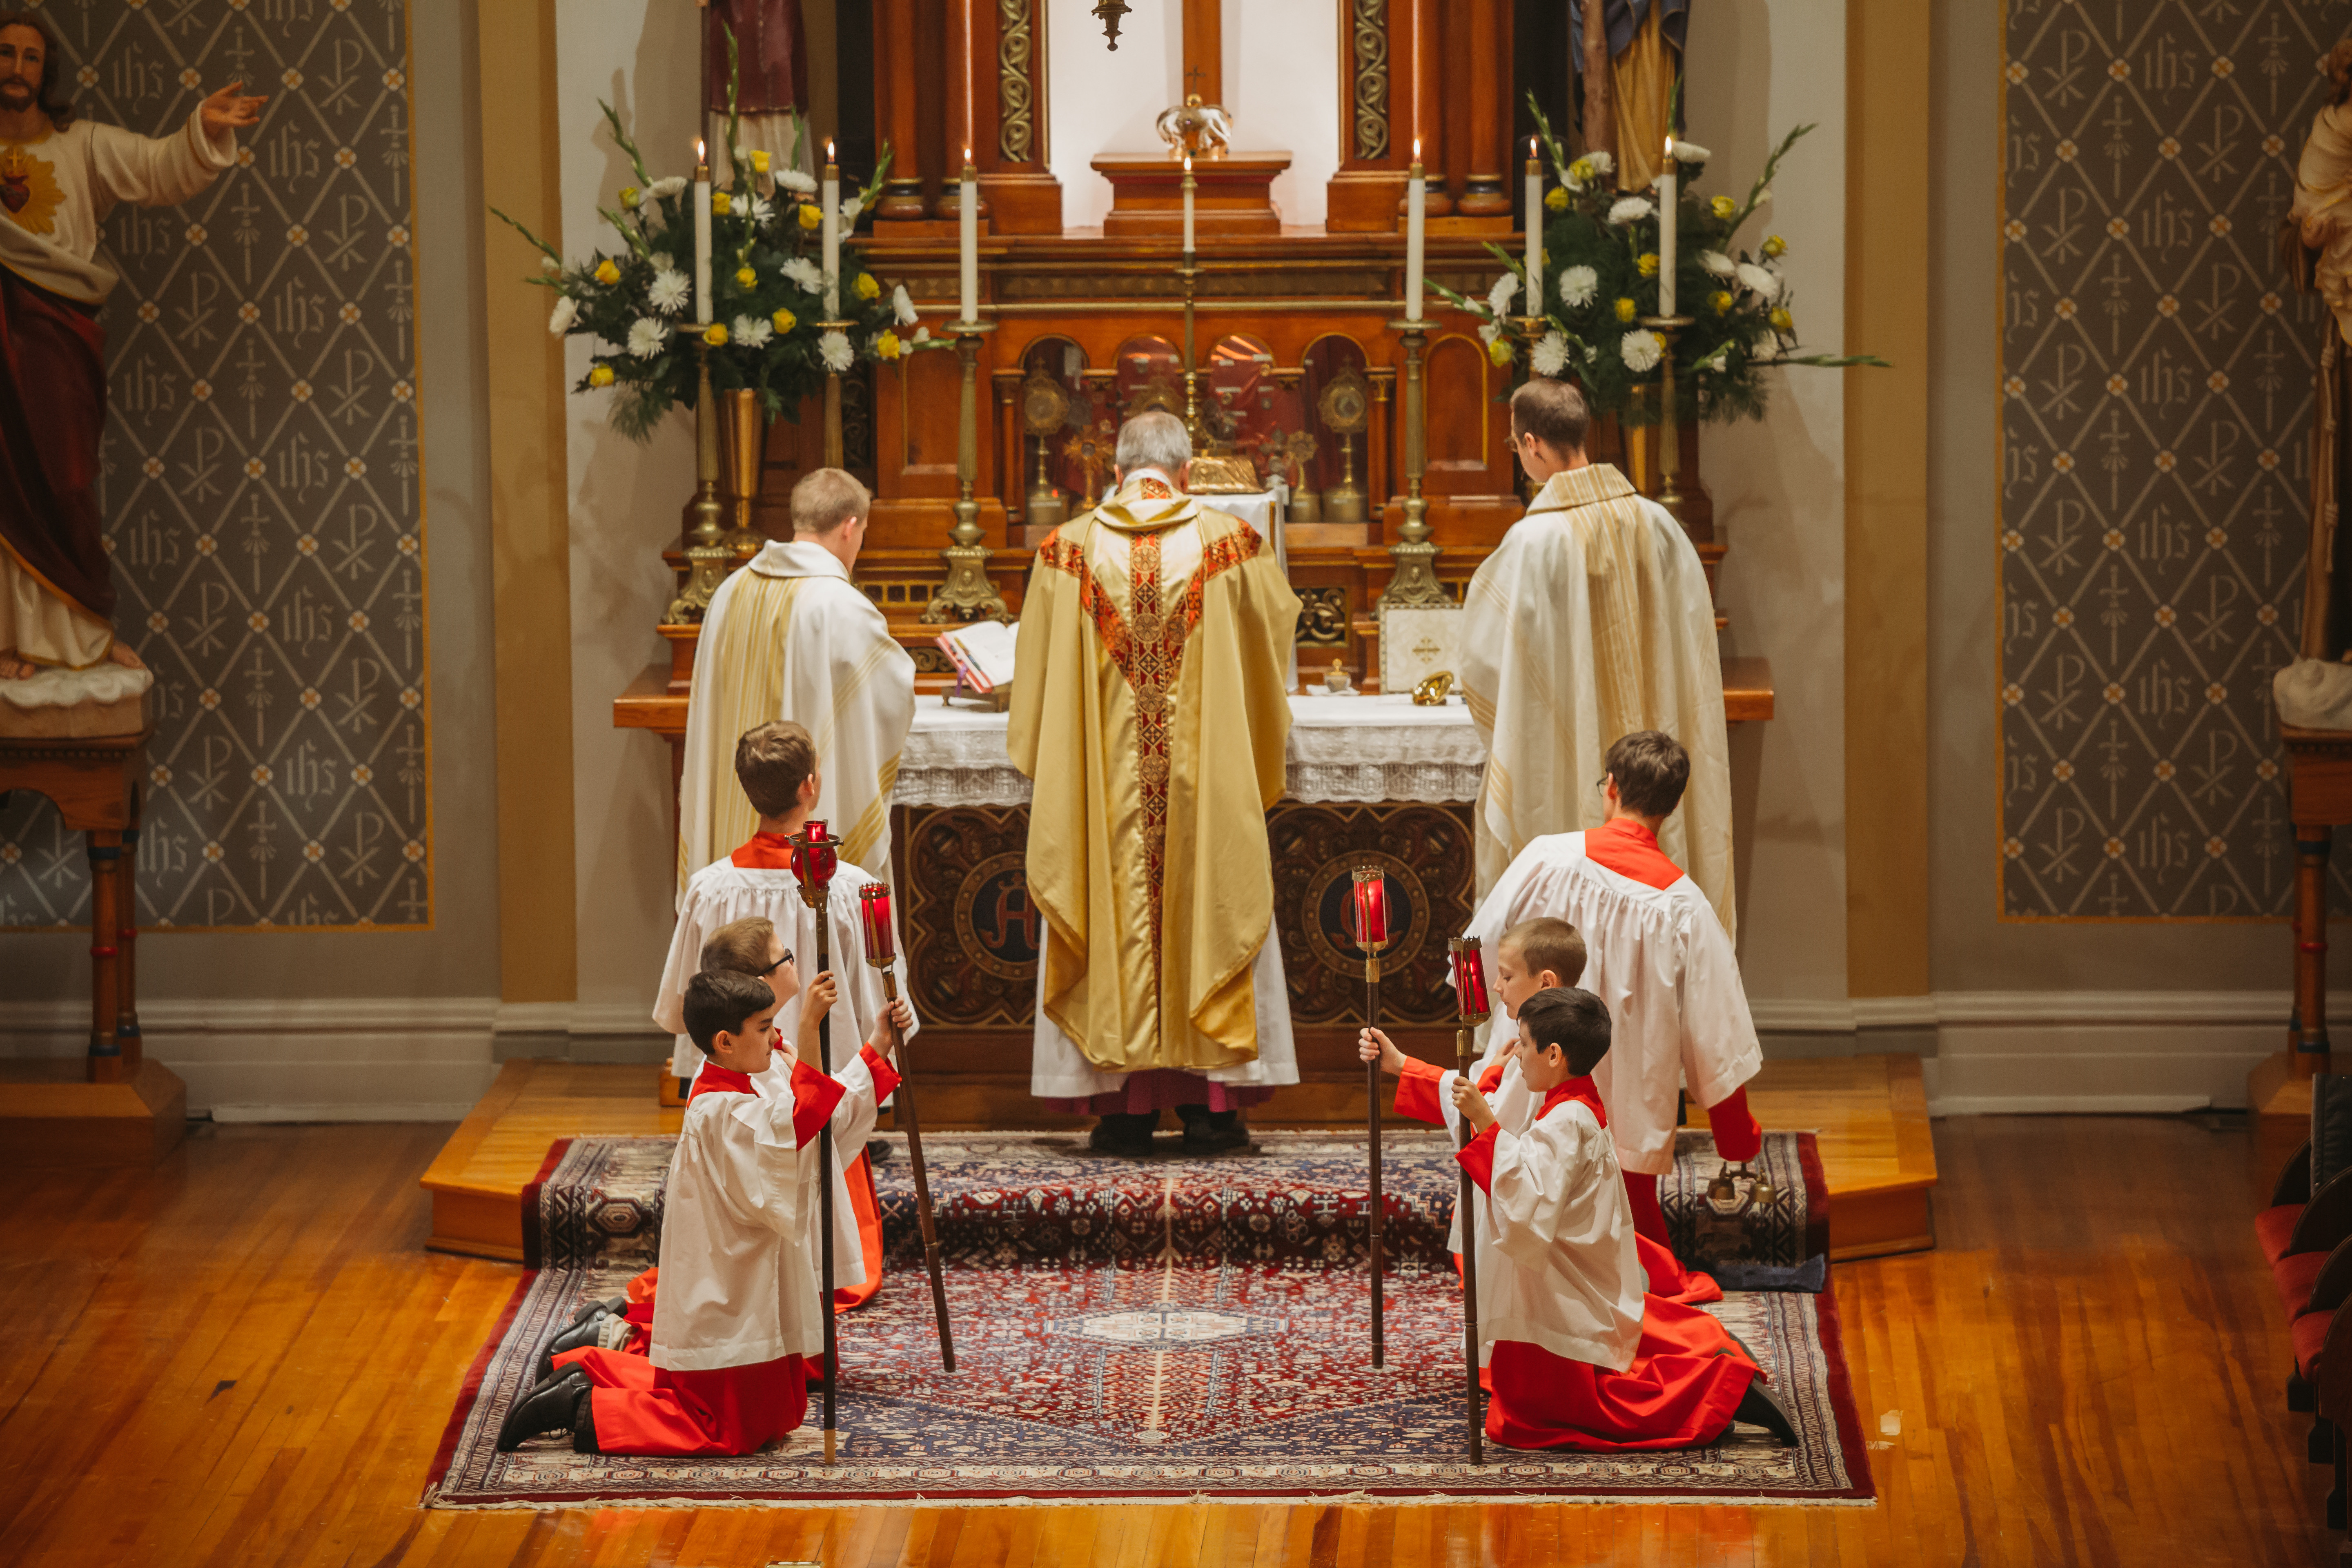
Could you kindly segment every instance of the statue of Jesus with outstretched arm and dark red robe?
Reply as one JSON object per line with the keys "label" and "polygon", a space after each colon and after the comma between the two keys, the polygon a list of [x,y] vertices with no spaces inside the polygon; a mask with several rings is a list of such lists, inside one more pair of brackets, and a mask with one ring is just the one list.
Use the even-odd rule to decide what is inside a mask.
{"label": "statue of Jesus with outstretched arm and dark red robe", "polygon": [[139,668],[115,642],[94,484],[115,287],[96,261],[118,202],[169,207],[238,158],[263,99],[230,82],[172,136],[94,125],[64,92],[49,26],[0,14],[0,679],[40,665]]}

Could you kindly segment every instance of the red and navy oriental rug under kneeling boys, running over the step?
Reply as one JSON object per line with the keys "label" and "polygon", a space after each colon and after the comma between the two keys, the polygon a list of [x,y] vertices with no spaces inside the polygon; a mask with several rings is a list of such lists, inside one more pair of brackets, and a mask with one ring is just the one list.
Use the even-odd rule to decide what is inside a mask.
{"label": "red and navy oriental rug under kneeling boys, running over the step", "polygon": [[[938,1366],[917,1253],[891,1225],[889,1279],[840,1328],[835,1465],[811,1429],[736,1460],[576,1455],[569,1439],[501,1455],[496,1429],[539,1347],[581,1302],[652,1262],[659,1192],[642,1182],[666,1143],[579,1138],[550,1152],[536,1192],[541,1267],[468,1373],[430,1507],[1875,1495],[1835,1298],[1802,1291],[1712,1307],[1797,1415],[1797,1448],[1733,1427],[1698,1450],[1489,1443],[1486,1462],[1470,1465],[1461,1286],[1437,1206],[1451,1201],[1449,1161],[1442,1138],[1423,1133],[1399,1135],[1385,1161],[1381,1371],[1369,1356],[1362,1150],[1343,1135],[1268,1135],[1247,1159],[1110,1161],[1075,1140],[941,1133],[924,1150],[953,1251],[957,1371]],[[877,1175],[887,1208],[901,1185],[903,1145]]]}

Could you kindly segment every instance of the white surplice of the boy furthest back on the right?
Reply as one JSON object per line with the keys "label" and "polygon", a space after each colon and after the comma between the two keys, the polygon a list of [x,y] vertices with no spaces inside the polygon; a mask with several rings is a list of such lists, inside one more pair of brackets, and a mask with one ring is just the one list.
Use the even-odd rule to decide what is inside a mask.
{"label": "white surplice of the boy furthest back on the right", "polygon": [[1698,1105],[1715,1105],[1764,1065],[1731,933],[1691,877],[1653,889],[1585,856],[1583,832],[1555,832],[1510,863],[1470,919],[1489,994],[1501,990],[1494,954],[1503,933],[1543,914],[1585,938],[1578,985],[1609,1006],[1609,1056],[1592,1084],[1609,1107],[1618,1164],[1665,1175],[1682,1084]]}

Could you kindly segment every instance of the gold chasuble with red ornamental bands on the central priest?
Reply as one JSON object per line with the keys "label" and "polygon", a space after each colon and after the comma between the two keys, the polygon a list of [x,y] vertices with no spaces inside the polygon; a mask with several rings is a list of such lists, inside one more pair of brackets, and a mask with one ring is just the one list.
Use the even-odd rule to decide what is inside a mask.
{"label": "gold chasuble with red ornamental bands on the central priest", "polygon": [[1098,1070],[1258,1056],[1296,628],[1256,531],[1152,470],[1037,550],[1007,743],[1035,780],[1040,1009]]}

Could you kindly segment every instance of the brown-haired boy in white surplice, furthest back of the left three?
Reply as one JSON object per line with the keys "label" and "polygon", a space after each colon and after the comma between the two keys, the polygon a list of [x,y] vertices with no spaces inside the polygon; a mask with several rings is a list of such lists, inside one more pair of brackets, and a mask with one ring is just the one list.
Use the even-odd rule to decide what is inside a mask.
{"label": "brown-haired boy in white surplice, furthest back of the left three", "polygon": [[[795,954],[804,961],[816,959],[816,910],[800,898],[800,882],[793,877],[793,835],[814,816],[811,806],[823,795],[809,731],[788,719],[748,729],[736,741],[734,778],[755,813],[753,835],[724,860],[694,872],[687,884],[684,898],[677,900],[677,929],[670,933],[670,957],[654,1001],[654,1023],[675,1037],[670,1072],[689,1081],[696,1072],[708,1072],[703,1053],[684,1034],[687,983],[699,971],[720,964],[769,978],[779,964],[790,969]],[[882,1016],[882,971],[866,961],[858,924],[858,886],[866,882],[877,877],[844,853],[833,872],[826,910],[833,973],[840,983],[835,1039],[858,1039]],[[771,933],[762,940],[734,931],[731,940],[715,940],[748,919],[767,922]],[[894,959],[894,969],[906,994],[906,959]],[[800,1027],[800,999],[793,994],[783,1001],[781,1027],[786,1034]],[[776,1079],[771,1086],[781,1088],[788,1065],[779,1065],[771,1077]],[[835,1279],[835,1300],[849,1309],[882,1286],[882,1213],[875,1204],[873,1161],[863,1135],[837,1143],[842,1164],[833,1171],[833,1255],[842,1274]]]}

